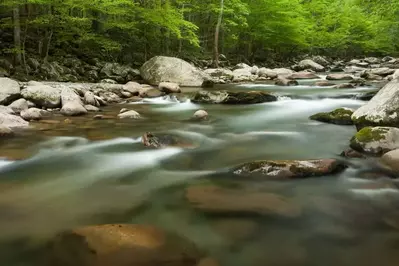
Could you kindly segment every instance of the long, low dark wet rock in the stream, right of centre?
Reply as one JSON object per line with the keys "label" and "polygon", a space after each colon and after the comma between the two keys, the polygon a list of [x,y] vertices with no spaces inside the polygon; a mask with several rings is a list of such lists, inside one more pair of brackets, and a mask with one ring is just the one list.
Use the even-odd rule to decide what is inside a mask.
{"label": "long, low dark wet rock in the stream, right of centre", "polygon": [[256,161],[245,163],[233,169],[239,176],[266,179],[295,179],[326,176],[344,170],[346,166],[335,159]]}

